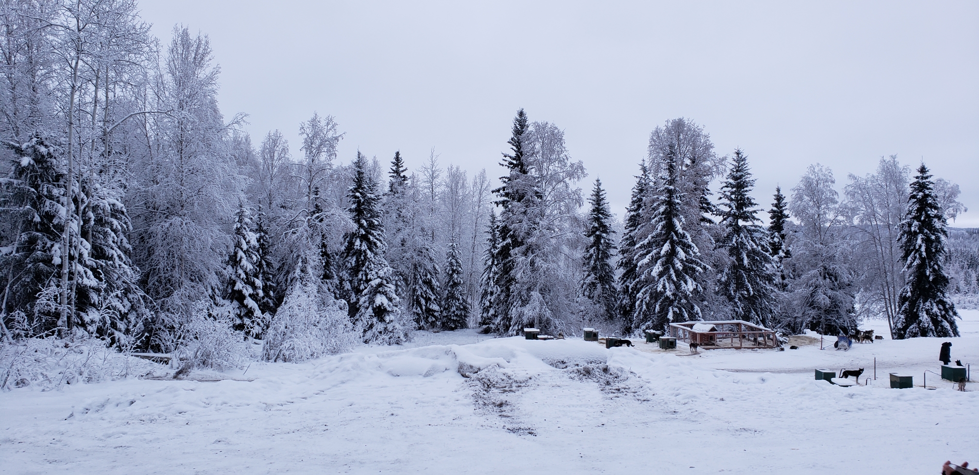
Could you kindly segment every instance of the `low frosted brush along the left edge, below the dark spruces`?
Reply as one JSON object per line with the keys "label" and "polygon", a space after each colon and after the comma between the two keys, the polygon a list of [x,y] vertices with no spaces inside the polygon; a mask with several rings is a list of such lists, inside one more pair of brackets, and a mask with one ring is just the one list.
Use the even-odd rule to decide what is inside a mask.
{"label": "low frosted brush along the left edge, below the dark spruces", "polygon": [[47,391],[63,384],[162,374],[164,370],[162,365],[107,347],[100,338],[23,338],[0,343],[0,389],[34,386]]}

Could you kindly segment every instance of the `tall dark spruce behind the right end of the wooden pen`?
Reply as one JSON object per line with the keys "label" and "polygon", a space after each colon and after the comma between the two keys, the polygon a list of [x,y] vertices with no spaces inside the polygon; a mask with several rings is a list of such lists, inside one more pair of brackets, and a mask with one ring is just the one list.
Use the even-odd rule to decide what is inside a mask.
{"label": "tall dark spruce behind the right end of the wooden pen", "polygon": [[718,276],[718,293],[729,304],[734,320],[769,326],[774,306],[772,259],[765,230],[758,224],[758,203],[751,197],[748,157],[734,151],[730,171],[721,186],[721,224],[726,232],[718,244],[727,251]]}

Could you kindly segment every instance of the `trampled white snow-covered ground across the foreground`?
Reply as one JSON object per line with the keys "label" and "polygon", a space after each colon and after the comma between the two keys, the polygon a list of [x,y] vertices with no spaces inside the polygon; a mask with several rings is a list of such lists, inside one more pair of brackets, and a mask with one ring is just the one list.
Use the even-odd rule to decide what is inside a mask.
{"label": "trampled white snow-covered ground across the foreground", "polygon": [[[962,316],[953,359],[979,367],[979,311]],[[887,373],[920,386],[941,341],[686,356],[461,330],[216,382],[28,387],[0,394],[0,472],[936,473],[979,462],[979,384]]]}

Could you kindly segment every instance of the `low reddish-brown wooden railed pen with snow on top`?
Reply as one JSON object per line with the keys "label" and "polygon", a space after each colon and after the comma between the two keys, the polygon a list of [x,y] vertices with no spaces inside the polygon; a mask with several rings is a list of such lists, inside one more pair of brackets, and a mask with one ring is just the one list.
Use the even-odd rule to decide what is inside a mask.
{"label": "low reddish-brown wooden railed pen with snow on top", "polygon": [[743,320],[720,322],[684,322],[670,324],[670,336],[686,344],[696,343],[700,348],[775,348],[778,338],[775,330],[749,324]]}

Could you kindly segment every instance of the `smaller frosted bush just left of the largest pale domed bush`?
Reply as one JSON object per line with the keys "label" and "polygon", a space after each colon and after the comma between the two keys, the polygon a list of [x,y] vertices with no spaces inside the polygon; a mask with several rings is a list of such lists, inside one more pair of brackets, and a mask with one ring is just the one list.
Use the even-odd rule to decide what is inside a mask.
{"label": "smaller frosted bush just left of the largest pale domed bush", "polygon": [[[210,311],[209,311],[210,310]],[[242,367],[249,359],[248,345],[234,324],[227,307],[211,308],[199,303],[190,323],[184,326],[184,338],[177,355],[191,367],[230,369]]]}

